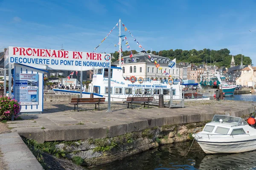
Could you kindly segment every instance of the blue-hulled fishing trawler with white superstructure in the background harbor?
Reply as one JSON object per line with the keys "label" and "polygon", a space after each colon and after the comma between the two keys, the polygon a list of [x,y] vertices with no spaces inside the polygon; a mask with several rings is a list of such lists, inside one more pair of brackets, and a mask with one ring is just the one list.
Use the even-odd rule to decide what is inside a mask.
{"label": "blue-hulled fishing trawler with white superstructure in the background harbor", "polygon": [[236,85],[228,84],[226,78],[221,77],[218,71],[215,71],[215,74],[201,74],[200,79],[201,86],[222,89],[223,96],[233,96],[235,93]]}

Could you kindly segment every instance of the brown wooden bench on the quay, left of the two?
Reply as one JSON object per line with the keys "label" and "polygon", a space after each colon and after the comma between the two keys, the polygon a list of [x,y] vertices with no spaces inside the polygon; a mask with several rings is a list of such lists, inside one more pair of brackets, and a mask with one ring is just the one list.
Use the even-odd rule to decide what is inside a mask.
{"label": "brown wooden bench on the quay, left of the two", "polygon": [[82,104],[95,104],[95,109],[96,105],[103,104],[105,102],[105,97],[104,98],[72,98],[71,102],[69,103],[70,105],[74,105],[74,110],[76,110],[77,106],[77,111],[78,111],[78,105]]}

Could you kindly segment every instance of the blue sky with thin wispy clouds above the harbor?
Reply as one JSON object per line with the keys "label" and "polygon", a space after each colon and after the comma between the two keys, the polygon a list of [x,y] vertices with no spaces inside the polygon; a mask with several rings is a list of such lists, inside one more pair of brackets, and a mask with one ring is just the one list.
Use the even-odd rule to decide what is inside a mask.
{"label": "blue sky with thin wispy clouds above the harbor", "polygon": [[[92,52],[121,18],[146,50],[228,48],[256,65],[255,9],[256,0],[0,0],[0,51],[63,44],[65,50]],[[115,28],[96,52],[118,51],[117,43]]]}

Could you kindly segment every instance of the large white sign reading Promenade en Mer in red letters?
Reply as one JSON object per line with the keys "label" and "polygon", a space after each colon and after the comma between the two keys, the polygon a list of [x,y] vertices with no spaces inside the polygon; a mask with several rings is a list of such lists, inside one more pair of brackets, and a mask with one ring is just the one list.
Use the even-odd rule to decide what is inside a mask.
{"label": "large white sign reading Promenade en Mer in red letters", "polygon": [[59,70],[91,70],[111,67],[110,54],[23,47],[9,47],[8,54],[10,63],[35,68],[37,65],[46,65],[48,68]]}

